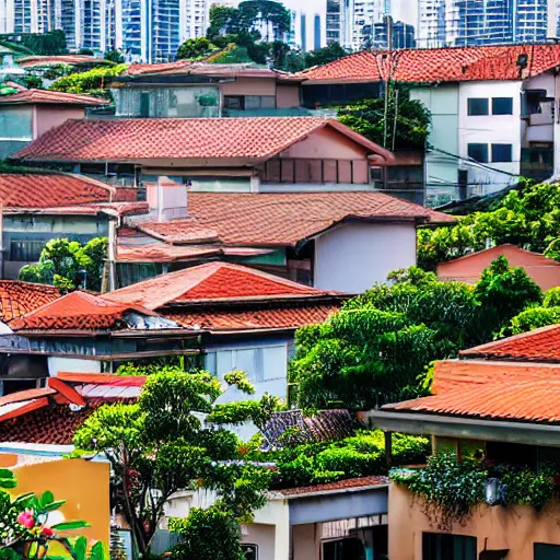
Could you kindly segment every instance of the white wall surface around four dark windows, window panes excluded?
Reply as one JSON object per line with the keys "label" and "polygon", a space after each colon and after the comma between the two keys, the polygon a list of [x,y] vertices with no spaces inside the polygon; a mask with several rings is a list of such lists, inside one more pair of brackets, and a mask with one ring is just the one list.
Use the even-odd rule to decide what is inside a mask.
{"label": "white wall surface around four dark windows, window panes excluded", "polygon": [[[518,175],[521,170],[521,144],[522,129],[524,124],[521,120],[521,89],[522,82],[488,81],[488,82],[463,82],[459,84],[459,155],[468,159],[469,143],[488,144],[489,162],[487,167],[497,170],[490,171],[487,167],[468,165],[469,187],[478,185],[474,194],[493,192],[515,183],[516,177],[500,173],[500,171]],[[469,116],[469,98],[488,98],[490,115]],[[512,115],[492,115],[492,97],[512,97]],[[512,162],[492,162],[491,144],[512,144]]]}

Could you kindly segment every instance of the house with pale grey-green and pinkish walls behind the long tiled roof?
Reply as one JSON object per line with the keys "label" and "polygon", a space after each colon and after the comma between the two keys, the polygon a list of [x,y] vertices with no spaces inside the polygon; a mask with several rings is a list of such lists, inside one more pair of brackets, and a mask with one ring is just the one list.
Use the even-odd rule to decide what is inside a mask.
{"label": "house with pale grey-green and pinkish walls behind the long tiled roof", "polygon": [[305,116],[300,81],[254,63],[131,65],[114,78],[117,117]]}

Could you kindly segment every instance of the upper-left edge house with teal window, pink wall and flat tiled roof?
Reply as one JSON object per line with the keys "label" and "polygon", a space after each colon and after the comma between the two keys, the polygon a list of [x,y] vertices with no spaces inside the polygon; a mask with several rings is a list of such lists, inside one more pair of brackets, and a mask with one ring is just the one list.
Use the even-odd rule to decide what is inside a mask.
{"label": "upper-left edge house with teal window, pink wall and flat tiled roof", "polygon": [[102,107],[107,100],[74,93],[22,89],[0,96],[0,160],[69,118],[83,118],[86,107]]}

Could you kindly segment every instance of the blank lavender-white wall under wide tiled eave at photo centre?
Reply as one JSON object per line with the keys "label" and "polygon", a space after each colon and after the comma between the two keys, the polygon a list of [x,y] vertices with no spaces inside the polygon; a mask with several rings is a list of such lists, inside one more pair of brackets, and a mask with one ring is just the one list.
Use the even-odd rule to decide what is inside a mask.
{"label": "blank lavender-white wall under wide tiled eave at photo centre", "polygon": [[413,223],[342,224],[315,240],[314,285],[361,293],[415,264]]}

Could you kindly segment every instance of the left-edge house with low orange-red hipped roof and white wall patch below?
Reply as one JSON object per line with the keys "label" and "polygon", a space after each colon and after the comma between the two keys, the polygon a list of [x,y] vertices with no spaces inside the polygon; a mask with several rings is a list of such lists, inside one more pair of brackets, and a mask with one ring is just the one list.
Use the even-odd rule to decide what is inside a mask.
{"label": "left-edge house with low orange-red hipped roof and white wall patch below", "polygon": [[186,330],[171,319],[135,304],[71,292],[8,325],[0,354],[33,357],[30,383],[63,371],[113,372],[133,360],[200,354],[200,330]]}

